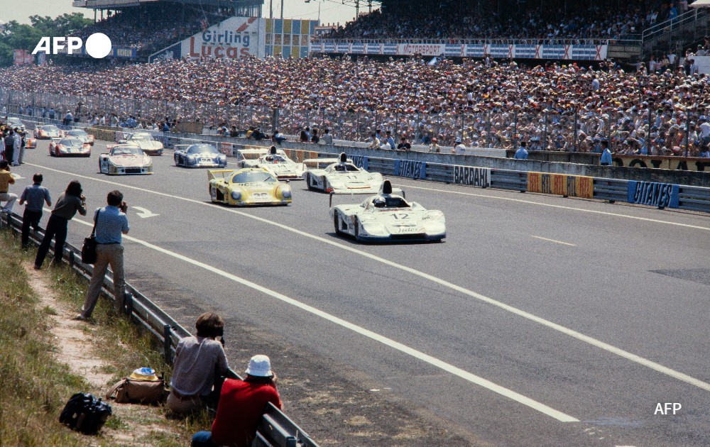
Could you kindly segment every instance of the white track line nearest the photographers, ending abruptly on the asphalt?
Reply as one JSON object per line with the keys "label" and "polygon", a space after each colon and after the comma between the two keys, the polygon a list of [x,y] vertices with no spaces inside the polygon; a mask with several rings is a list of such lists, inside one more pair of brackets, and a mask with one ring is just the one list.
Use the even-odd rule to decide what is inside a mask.
{"label": "white track line nearest the photographers, ending abruptly on the asphalt", "polygon": [[[79,222],[79,223],[83,223],[86,226],[94,226],[94,222],[86,222],[86,221],[81,221],[79,219],[72,219],[72,220]],[[283,301],[283,302],[290,304],[292,306],[295,306],[299,309],[310,312],[311,314],[314,314],[316,316],[320,316],[320,318],[322,318],[322,319],[325,319],[325,320],[330,321],[334,324],[342,326],[346,329],[349,329],[351,331],[359,333],[362,336],[366,336],[368,338],[371,338],[374,341],[378,341],[378,342],[382,343],[383,345],[386,345],[386,346],[389,346],[390,348],[396,349],[397,351],[411,355],[412,357],[422,360],[423,362],[429,363],[430,365],[434,365],[435,367],[442,369],[442,370],[446,371],[447,373],[452,373],[453,375],[461,377],[464,380],[468,380],[471,383],[474,383],[474,384],[484,387],[488,390],[491,390],[493,392],[501,394],[501,396],[508,397],[508,399],[512,399],[515,402],[519,402],[520,404],[527,405],[528,407],[535,409],[538,412],[541,412],[543,414],[546,414],[547,416],[553,417],[553,418],[557,419],[558,421],[579,422],[579,419],[569,416],[569,414],[564,414],[562,412],[559,412],[554,408],[547,407],[547,405],[541,404],[540,402],[530,399],[530,397],[525,397],[525,396],[523,396],[523,394],[518,394],[517,392],[515,392],[513,390],[508,390],[508,388],[506,388],[506,387],[501,387],[501,385],[496,385],[495,383],[493,383],[489,380],[486,380],[483,377],[479,377],[477,375],[469,373],[466,370],[462,370],[461,368],[457,368],[456,366],[454,366],[450,363],[446,363],[443,360],[439,360],[438,358],[432,357],[431,355],[422,353],[421,351],[417,351],[416,349],[410,348],[409,346],[399,343],[398,341],[394,341],[391,338],[381,336],[380,334],[378,334],[376,332],[365,329],[362,326],[352,324],[349,321],[345,321],[344,319],[340,319],[337,316],[328,314],[327,312],[324,312],[320,309],[309,306],[308,304],[297,301],[296,299],[287,297],[284,294],[280,294],[280,293],[275,292],[271,289],[267,289],[266,287],[258,285],[254,282],[249,281],[249,280],[245,280],[244,278],[238,277],[236,275],[232,275],[231,273],[225,272],[224,270],[219,270],[217,267],[212,267],[212,265],[201,263],[200,261],[194,260],[192,258],[188,258],[185,255],[180,255],[180,253],[175,253],[173,251],[166,250],[165,248],[159,247],[158,245],[153,245],[152,243],[148,243],[146,241],[141,241],[140,239],[136,239],[131,236],[124,235],[123,237],[126,238],[126,240],[128,240],[128,241],[139,243],[139,244],[144,245],[148,248],[151,248],[152,250],[156,250],[156,251],[163,253],[165,255],[172,256],[173,258],[177,258],[179,260],[185,261],[186,263],[190,263],[190,264],[195,265],[197,267],[203,268],[204,270],[208,270],[209,272],[212,272],[212,273],[215,273],[219,276],[225,277],[228,280],[232,280],[234,282],[239,282],[239,284],[241,284],[241,285],[245,285],[246,287],[251,287],[252,289],[257,290],[258,292],[261,292],[263,294],[267,294],[270,297],[274,297],[275,299],[280,299],[280,301]]]}

